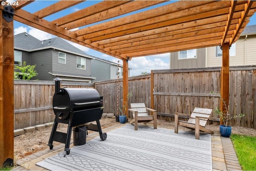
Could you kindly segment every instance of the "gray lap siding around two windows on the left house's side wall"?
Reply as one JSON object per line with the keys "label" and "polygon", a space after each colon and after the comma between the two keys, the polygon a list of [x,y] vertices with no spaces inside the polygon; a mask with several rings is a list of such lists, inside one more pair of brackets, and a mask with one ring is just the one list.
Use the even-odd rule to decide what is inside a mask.
{"label": "gray lap siding around two windows on the left house's side wall", "polygon": [[[70,54],[67,52],[62,52],[66,54],[66,64],[61,64],[58,62],[58,53],[62,52],[59,50],[52,51],[52,72],[53,73],[63,73],[66,75],[82,75],[90,76],[91,75],[91,59],[86,58],[86,67],[85,70],[76,68],[76,57],[77,55]],[[82,57],[82,56],[78,56]],[[82,57],[84,58],[84,57]]]}

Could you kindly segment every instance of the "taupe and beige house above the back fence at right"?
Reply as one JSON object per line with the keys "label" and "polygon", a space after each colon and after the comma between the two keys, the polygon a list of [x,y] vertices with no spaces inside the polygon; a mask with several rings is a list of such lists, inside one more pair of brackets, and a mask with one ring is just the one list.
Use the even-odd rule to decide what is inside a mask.
{"label": "taupe and beige house above the back fence at right", "polygon": [[[246,26],[230,47],[230,66],[256,65],[256,25]],[[219,46],[170,53],[170,69],[221,67]]]}

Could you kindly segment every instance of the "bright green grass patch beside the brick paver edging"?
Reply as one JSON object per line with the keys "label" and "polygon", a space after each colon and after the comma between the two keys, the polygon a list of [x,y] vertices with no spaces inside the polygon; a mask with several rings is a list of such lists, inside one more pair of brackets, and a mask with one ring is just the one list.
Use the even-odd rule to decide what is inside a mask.
{"label": "bright green grass patch beside the brick paver edging", "polygon": [[242,169],[256,170],[256,137],[232,134],[230,139]]}

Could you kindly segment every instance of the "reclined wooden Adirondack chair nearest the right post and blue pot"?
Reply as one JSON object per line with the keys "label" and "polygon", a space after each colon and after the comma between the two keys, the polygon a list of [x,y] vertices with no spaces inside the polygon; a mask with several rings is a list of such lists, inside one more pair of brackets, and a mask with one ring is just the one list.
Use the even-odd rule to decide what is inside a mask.
{"label": "reclined wooden Adirondack chair nearest the right post and blue pot", "polygon": [[[191,113],[191,115],[184,114],[184,113],[175,113],[174,116],[174,132],[178,133],[178,125],[184,126],[189,129],[195,129],[195,138],[199,139],[200,131],[213,134],[214,132],[206,129],[205,125],[208,121],[208,119],[217,119],[210,117],[212,114],[213,109],[206,109],[206,108],[199,108],[196,107],[194,111]],[[188,121],[179,121],[178,117],[179,115],[188,115],[190,118]]]}

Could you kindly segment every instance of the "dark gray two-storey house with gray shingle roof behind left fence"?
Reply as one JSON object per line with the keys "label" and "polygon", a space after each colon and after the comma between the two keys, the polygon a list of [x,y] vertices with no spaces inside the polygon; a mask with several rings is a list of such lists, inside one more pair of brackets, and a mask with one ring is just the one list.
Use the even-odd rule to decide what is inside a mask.
{"label": "dark gray two-storey house with gray shingle roof behind left fence", "polygon": [[36,65],[33,80],[52,81],[58,77],[68,81],[92,82],[91,60],[82,50],[61,38],[38,40],[27,33],[14,36],[14,64]]}

